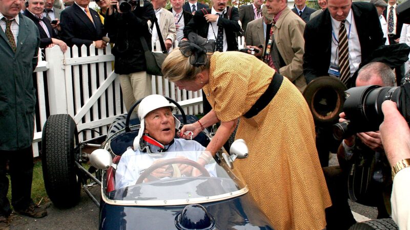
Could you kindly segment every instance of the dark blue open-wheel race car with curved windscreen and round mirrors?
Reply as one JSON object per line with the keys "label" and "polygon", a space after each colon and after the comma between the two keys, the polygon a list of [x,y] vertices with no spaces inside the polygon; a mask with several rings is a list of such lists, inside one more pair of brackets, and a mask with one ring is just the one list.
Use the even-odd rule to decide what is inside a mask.
{"label": "dark blue open-wheel race car with curved windscreen and round mirrors", "polygon": [[[175,116],[183,124],[197,120],[185,116],[172,102],[179,108],[182,115]],[[46,190],[54,204],[75,205],[82,187],[99,206],[100,229],[274,229],[234,166],[235,158],[248,154],[243,140],[232,143],[230,154],[218,151],[205,167],[195,162],[200,155],[196,151],[169,152],[155,158],[148,154],[121,157],[132,146],[138,123],[129,116],[119,117],[107,135],[79,143],[76,125],[68,114],[50,116],[43,129],[42,158]],[[211,138],[205,131],[194,140],[207,146]],[[86,146],[100,149],[91,155],[82,153]],[[88,170],[83,167],[87,162],[92,165]],[[117,171],[124,173],[147,164],[150,167],[140,172],[136,181],[116,181]],[[179,165],[200,174],[186,176],[178,170]],[[172,173],[161,179],[152,176],[161,168]],[[88,191],[90,185],[101,186],[100,201]]]}

